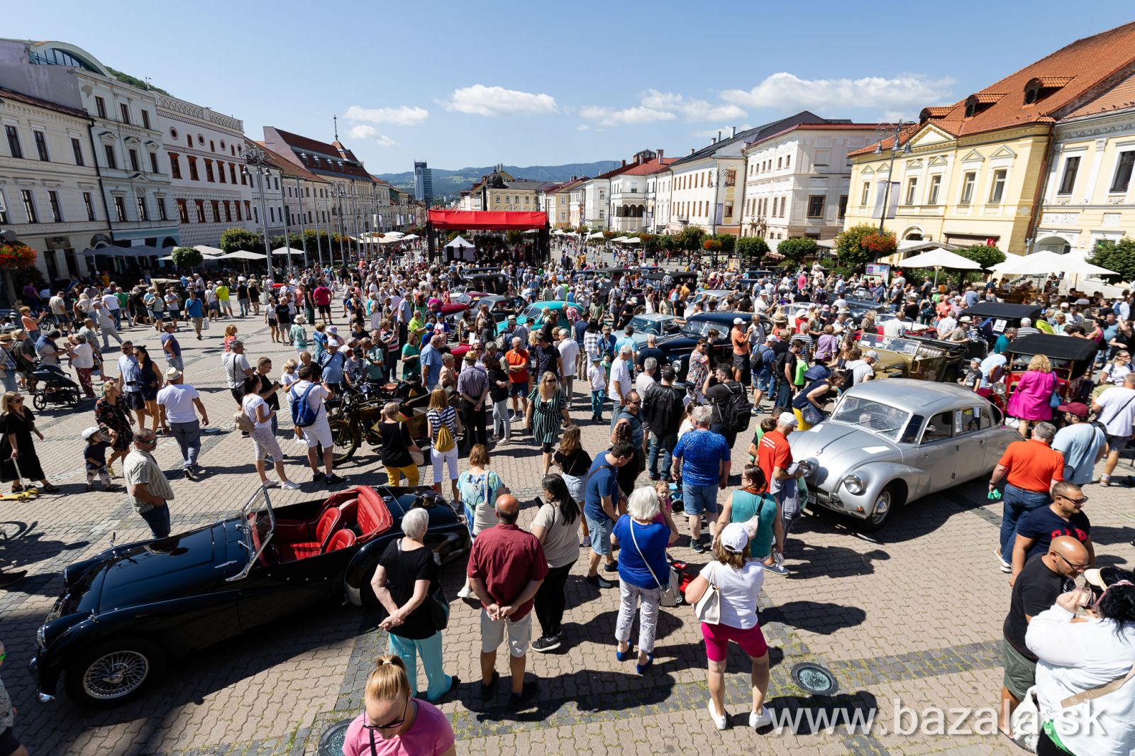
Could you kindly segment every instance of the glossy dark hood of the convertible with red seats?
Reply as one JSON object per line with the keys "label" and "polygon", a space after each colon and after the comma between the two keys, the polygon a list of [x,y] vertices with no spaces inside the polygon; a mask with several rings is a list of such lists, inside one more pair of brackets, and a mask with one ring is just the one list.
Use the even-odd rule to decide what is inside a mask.
{"label": "glossy dark hood of the convertible with red seats", "polygon": [[218,522],[106,552],[96,568],[102,573],[99,611],[196,594],[236,574],[247,551],[236,543],[243,536],[235,526],[235,520]]}

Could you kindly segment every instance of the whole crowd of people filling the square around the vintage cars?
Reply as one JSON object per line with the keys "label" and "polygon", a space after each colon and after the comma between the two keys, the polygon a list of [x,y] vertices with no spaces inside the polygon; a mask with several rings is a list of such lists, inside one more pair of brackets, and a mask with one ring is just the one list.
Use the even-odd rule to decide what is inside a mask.
{"label": "whole crowd of people filling the square around the vintage cars", "polygon": [[[226,325],[219,364],[194,366],[194,371],[224,377],[235,404],[234,427],[251,440],[263,486],[344,485],[334,469],[328,403],[370,386],[407,381],[429,394],[427,438],[412,437],[400,403],[388,402],[375,423],[380,461],[392,485],[414,486],[428,459],[435,488],[463,512],[473,540],[457,597],[479,605],[481,705],[495,700],[496,657],[505,641],[510,705],[519,708],[537,695],[535,682],[526,682],[533,672],[528,650],[547,653],[573,640],[563,625],[564,586],[580,547],[589,552],[585,585],[600,594],[619,587],[611,639],[615,660],[633,658],[637,674],[650,674],[658,618],[673,605],[679,580],[669,549],[680,545],[709,554],[684,589],[687,602],[698,606],[705,640],[707,714],[716,728],[728,726],[725,649],[733,641],[751,660],[748,724],[765,726],[772,721],[765,704],[768,649],[756,606],[766,572],[790,573],[785,546],[801,512],[807,473],[793,463],[791,434],[823,422],[842,392],[875,379],[880,355],[858,345],[864,333],[930,330],[949,342],[987,342],[989,356],[960,380],[990,395],[1010,372],[1003,355],[1012,339],[1039,330],[1037,324],[1025,319],[1016,328],[999,328],[992,319],[967,316],[967,308],[1004,295],[992,282],[934,286],[908,280],[901,271],[890,280],[830,275],[817,263],[756,277],[703,271],[697,285],[662,269],[651,277],[627,272],[604,284],[574,275],[588,262],[573,249],[544,267],[522,259],[499,255],[510,282],[505,295],[528,303],[561,301],[563,309],[501,319],[488,304],[473,301],[465,312],[451,313],[448,305],[462,303],[463,264],[417,255],[272,277],[210,282],[183,276],[165,286],[143,283],[129,293],[103,279],[76,287],[74,297],[65,292],[37,297],[25,308],[22,327],[10,338],[0,335],[9,389],[0,406],[6,429],[0,480],[20,485],[8,464],[18,460],[24,478],[40,480],[41,490],[53,488],[35,457],[34,417],[20,406],[19,390],[34,388],[36,364],[69,360],[87,396],[94,396],[92,375],[101,375],[94,425],[84,431],[87,488],[111,486],[114,465],[121,461],[128,499],[155,538],[169,535],[174,498],[152,454],[159,436],[176,438],[186,478],[208,474],[199,455],[201,428],[210,420],[197,390],[186,383],[179,334],[192,329],[200,339]],[[711,289],[728,294],[699,296]],[[1037,355],[1007,405],[1023,438],[1010,445],[989,481],[991,497],[1003,497],[994,551],[1014,596],[1004,632],[1007,732],[1014,705],[1034,681],[1048,724],[1063,715],[1061,699],[1088,690],[1093,681],[1121,677],[1135,662],[1135,646],[1118,640],[1091,646],[1107,632],[1119,639],[1135,636],[1135,586],[1121,571],[1093,570],[1096,556],[1082,511],[1087,501],[1082,487],[1094,480],[1096,462],[1104,462],[1100,482],[1112,484],[1133,435],[1130,295],[1105,302],[1043,287],[1014,296],[1042,305],[1046,333],[1094,339],[1100,356],[1078,377],[1083,385],[1062,385],[1051,362]],[[849,299],[877,306],[852,317]],[[295,351],[275,379],[271,359],[250,359],[246,337],[238,333],[255,330],[261,310],[270,341]],[[628,325],[639,311],[690,317],[714,310],[735,313],[732,328],[698,342],[684,380],[664,362],[656,337],[640,342]],[[884,312],[896,317],[883,320]],[[41,324],[50,330],[41,330]],[[151,356],[124,338],[121,331],[131,328],[159,334],[161,354]],[[109,348],[108,337],[120,344],[117,370],[96,346],[101,338]],[[725,356],[718,359],[715,347],[722,345]],[[602,451],[591,453],[581,444],[571,414],[579,401],[607,438]],[[281,411],[291,420],[283,436]],[[750,414],[760,418],[751,440]],[[310,479],[295,465],[289,470],[280,446],[285,437],[306,448]],[[749,459],[735,476],[732,452],[739,437]],[[426,440],[428,455],[426,444],[419,445]],[[521,502],[491,469],[491,455],[516,444],[540,452],[541,495],[529,530],[518,524]],[[268,477],[269,463],[278,481]],[[731,487],[731,479],[740,485]],[[402,739],[403,748],[413,744],[413,753],[453,753],[452,730],[430,703],[457,683],[446,674],[443,654],[452,608],[423,544],[423,514],[417,510],[403,518],[403,537],[387,548],[371,583],[390,656],[379,660],[368,680],[365,712],[347,734],[348,754],[402,753],[381,749],[392,739]],[[679,514],[688,534],[680,532]],[[1082,573],[1101,596],[1071,587],[1069,580]],[[1078,648],[1102,650],[1060,653],[1070,638]],[[421,697],[418,656],[427,680]],[[1133,690],[1108,694],[1116,723],[1109,737],[1117,748],[1127,748],[1123,753],[1135,748],[1133,719],[1124,719],[1135,709]],[[1056,738],[1050,728],[1044,732]],[[1083,746],[1074,739],[1063,747],[1095,753],[1077,750]]]}

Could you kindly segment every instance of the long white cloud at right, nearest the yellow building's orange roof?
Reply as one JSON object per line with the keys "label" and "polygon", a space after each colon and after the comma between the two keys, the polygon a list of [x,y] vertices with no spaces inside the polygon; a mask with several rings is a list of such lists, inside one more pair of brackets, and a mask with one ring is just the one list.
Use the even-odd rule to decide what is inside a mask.
{"label": "long white cloud at right, nearest the yellow building's orange roof", "polygon": [[726,90],[721,98],[743,108],[874,107],[910,111],[948,99],[952,84],[949,77],[930,78],[922,74],[806,79],[781,72],[751,90]]}

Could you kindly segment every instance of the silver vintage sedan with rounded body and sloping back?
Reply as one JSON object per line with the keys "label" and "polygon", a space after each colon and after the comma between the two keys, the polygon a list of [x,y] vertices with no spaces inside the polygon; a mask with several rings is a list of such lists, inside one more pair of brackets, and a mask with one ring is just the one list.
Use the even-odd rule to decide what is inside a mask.
{"label": "silver vintage sedan with rounded body and sloping back", "polygon": [[987,476],[1020,436],[1001,412],[952,384],[871,380],[840,397],[830,418],[789,436],[807,461],[808,501],[874,530],[891,510]]}

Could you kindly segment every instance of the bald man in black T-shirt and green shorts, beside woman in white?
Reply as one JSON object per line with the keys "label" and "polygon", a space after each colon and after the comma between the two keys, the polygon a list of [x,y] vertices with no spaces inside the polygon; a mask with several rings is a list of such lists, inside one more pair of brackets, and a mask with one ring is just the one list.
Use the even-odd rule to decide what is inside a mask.
{"label": "bald man in black T-shirt and green shorts, beside woman in white", "polygon": [[1025,645],[1025,632],[1034,616],[1051,607],[1091,564],[1087,548],[1071,536],[1053,538],[1048,552],[1027,562],[1012,586],[1009,614],[1004,618],[1001,656],[1004,679],[998,726],[1009,733],[1009,717],[1036,681],[1036,655]]}

